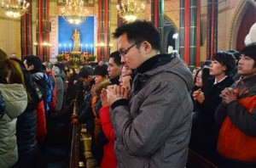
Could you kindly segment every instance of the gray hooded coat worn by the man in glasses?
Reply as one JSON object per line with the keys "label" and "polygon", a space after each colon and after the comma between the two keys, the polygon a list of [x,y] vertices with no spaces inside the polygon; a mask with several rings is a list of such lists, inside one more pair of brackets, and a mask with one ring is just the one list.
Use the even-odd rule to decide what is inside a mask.
{"label": "gray hooded coat worn by the man in glasses", "polygon": [[129,106],[111,110],[118,167],[183,168],[193,109],[191,72],[174,58],[143,76],[148,80],[132,93]]}

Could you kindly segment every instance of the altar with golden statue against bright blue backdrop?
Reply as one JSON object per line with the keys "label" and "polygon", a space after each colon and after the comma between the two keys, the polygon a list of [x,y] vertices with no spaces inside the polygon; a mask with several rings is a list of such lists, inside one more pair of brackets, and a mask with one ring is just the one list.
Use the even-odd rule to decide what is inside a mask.
{"label": "altar with golden statue against bright blue backdrop", "polygon": [[58,62],[67,66],[79,66],[96,60],[94,17],[89,16],[79,25],[69,24],[61,16],[55,22],[58,23],[58,40],[52,55]]}

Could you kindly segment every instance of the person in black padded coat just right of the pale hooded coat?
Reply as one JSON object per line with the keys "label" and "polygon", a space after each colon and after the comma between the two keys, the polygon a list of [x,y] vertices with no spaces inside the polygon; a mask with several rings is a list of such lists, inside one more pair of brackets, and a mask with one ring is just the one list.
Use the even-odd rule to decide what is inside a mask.
{"label": "person in black padded coat just right of the pale hooded coat", "polygon": [[29,95],[28,104],[24,113],[18,116],[16,125],[16,137],[18,144],[18,162],[14,167],[32,168],[36,165],[38,154],[38,141],[36,138],[38,93],[33,87],[32,76],[20,59],[13,59],[20,64],[26,84],[26,92]]}

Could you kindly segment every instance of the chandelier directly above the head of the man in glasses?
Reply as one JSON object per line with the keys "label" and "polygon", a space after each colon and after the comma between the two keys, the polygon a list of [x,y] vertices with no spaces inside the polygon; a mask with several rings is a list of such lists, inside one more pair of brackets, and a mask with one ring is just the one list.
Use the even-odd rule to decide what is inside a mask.
{"label": "chandelier directly above the head of the man in glasses", "polygon": [[119,5],[117,5],[118,14],[121,18],[128,22],[137,20],[137,18],[144,14],[145,4],[138,4],[136,0],[122,0]]}

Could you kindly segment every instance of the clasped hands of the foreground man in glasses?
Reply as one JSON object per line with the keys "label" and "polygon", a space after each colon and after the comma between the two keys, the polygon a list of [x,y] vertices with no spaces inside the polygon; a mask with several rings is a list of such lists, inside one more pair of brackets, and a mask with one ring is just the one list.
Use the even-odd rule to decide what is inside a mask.
{"label": "clasped hands of the foreground man in glasses", "polygon": [[102,89],[102,106],[111,105],[121,98],[128,99],[129,96],[130,91],[126,87],[110,85],[107,87],[107,89]]}

